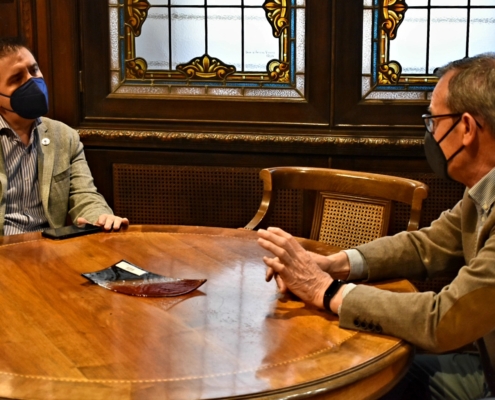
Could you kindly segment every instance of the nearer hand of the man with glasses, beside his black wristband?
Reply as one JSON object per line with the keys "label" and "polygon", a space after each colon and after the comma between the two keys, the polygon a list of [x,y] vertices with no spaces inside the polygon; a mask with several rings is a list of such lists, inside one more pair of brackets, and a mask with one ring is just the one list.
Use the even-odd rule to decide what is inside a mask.
{"label": "nearer hand of the man with glasses, beside his black wristband", "polygon": [[[309,252],[280,228],[260,229],[258,243],[275,257],[263,261],[275,272],[279,288],[289,289],[306,303],[323,308],[323,295],[333,279],[323,272]],[[268,279],[268,274],[267,274]]]}

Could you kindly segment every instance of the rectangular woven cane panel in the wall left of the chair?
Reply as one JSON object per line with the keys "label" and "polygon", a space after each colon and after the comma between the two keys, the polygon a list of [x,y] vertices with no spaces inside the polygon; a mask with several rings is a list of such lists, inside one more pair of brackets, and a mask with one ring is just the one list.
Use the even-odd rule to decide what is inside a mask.
{"label": "rectangular woven cane panel in the wall left of the chair", "polygon": [[113,164],[117,215],[137,224],[241,228],[258,210],[258,168]]}

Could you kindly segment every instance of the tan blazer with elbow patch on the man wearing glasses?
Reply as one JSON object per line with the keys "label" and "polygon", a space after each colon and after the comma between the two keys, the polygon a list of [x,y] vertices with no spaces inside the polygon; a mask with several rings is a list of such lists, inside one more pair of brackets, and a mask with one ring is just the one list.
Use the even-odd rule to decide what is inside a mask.
{"label": "tan blazer with elbow patch on the man wearing glasses", "polygon": [[495,365],[495,212],[479,238],[477,218],[466,191],[430,227],[358,247],[368,263],[369,280],[425,279],[441,272],[453,273],[455,279],[439,294],[392,293],[358,285],[344,299],[340,326],[380,331],[432,352],[455,350],[479,339],[490,379],[487,369]]}

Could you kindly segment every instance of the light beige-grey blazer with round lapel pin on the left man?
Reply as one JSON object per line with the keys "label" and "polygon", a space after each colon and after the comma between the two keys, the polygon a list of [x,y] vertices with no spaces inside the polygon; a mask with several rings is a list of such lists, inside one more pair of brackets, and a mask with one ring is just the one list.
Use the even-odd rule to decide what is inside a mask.
{"label": "light beige-grey blazer with round lapel pin on the left man", "polygon": [[[38,180],[50,226],[64,226],[67,214],[72,221],[83,217],[90,222],[96,222],[101,214],[112,214],[103,196],[96,191],[79,134],[62,122],[49,118],[41,120],[38,126]],[[43,139],[48,139],[49,143],[43,145]],[[7,176],[0,146],[0,235],[3,235],[6,197]]]}

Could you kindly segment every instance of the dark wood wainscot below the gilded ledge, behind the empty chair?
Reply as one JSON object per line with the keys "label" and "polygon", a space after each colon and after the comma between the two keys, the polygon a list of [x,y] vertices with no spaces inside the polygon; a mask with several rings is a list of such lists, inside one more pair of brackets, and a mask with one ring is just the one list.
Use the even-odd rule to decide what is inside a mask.
{"label": "dark wood wainscot below the gilded ledge, behind the empty chair", "polygon": [[[430,187],[421,225],[427,226],[462,197],[462,185],[436,177],[421,159],[384,159],[273,154],[195,153],[87,149],[99,191],[118,215],[136,224],[239,228],[254,216],[262,196],[258,173],[273,166],[354,169],[404,176]],[[304,197],[286,193],[270,224],[308,236]],[[390,234],[404,230],[409,210],[393,210]],[[311,218],[309,219],[311,220]]]}

